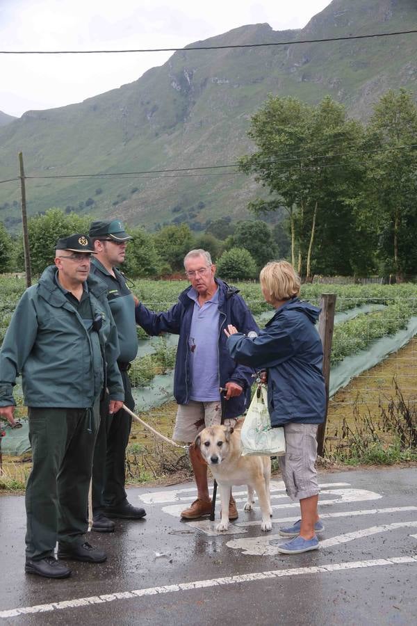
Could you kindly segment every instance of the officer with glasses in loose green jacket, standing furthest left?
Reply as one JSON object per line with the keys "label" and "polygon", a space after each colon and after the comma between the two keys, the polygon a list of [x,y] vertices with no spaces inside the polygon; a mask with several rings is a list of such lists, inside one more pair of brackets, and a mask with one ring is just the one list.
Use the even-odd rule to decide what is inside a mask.
{"label": "officer with glasses in loose green jacket, standing furthest left", "polygon": [[28,406],[25,571],[48,578],[71,574],[54,556],[57,540],[58,559],[106,560],[83,534],[104,379],[111,411],[122,406],[124,390],[106,287],[88,276],[93,254],[83,234],[58,241],[54,265],[24,292],[0,351],[0,415],[15,423],[19,373]]}

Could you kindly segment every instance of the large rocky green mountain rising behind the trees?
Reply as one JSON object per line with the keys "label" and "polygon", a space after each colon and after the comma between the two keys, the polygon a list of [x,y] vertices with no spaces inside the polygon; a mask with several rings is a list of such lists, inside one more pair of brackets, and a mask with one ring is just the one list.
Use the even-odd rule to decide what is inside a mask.
{"label": "large rocky green mountain rising behind the trees", "polygon": [[[193,45],[286,42],[409,30],[415,0],[334,0],[304,29],[241,26]],[[366,118],[389,88],[416,93],[417,35],[276,47],[179,51],[133,83],[48,111],[28,111],[0,128],[0,179],[17,175],[17,152],[28,176],[142,172],[234,163],[250,150],[250,115],[268,93],[319,102],[329,94]],[[413,61],[414,59],[414,61]],[[259,190],[230,170],[74,179],[28,179],[28,212],[117,216],[147,227],[247,216]],[[216,175],[211,175],[213,172]],[[194,178],[194,180],[193,180]],[[17,182],[0,185],[0,218],[19,225]],[[13,206],[13,202],[15,205]]]}

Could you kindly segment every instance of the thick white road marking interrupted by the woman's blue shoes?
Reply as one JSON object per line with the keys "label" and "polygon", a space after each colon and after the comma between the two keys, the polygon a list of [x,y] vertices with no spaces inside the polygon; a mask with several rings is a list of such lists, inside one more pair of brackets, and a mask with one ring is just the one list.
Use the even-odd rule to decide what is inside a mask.
{"label": "thick white road marking interrupted by the woman's blue shoes", "polygon": [[[361,539],[363,537],[369,537],[370,535],[376,535],[377,533],[384,533],[389,530],[398,528],[414,528],[417,527],[417,521],[410,522],[393,522],[393,524],[383,524],[382,526],[372,526],[370,528],[364,528],[354,531],[352,533],[343,533],[330,539],[320,541],[320,549],[332,547],[340,543],[347,543],[355,539]],[[286,543],[288,538],[281,535],[263,535],[259,537],[250,537],[244,539],[232,539],[227,542],[227,547],[242,550],[242,554],[250,554],[254,556],[275,556],[279,554],[277,549],[281,543]]]}

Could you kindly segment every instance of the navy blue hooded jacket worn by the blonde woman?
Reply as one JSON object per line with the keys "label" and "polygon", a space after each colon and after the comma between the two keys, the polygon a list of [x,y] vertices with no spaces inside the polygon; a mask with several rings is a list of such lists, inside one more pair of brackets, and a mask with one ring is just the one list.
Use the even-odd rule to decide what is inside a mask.
{"label": "navy blue hooded jacket worn by the blonde woman", "polygon": [[317,307],[293,298],[277,309],[259,337],[250,339],[238,333],[227,340],[236,361],[268,370],[272,426],[324,422],[323,352],[314,326],[319,313]]}

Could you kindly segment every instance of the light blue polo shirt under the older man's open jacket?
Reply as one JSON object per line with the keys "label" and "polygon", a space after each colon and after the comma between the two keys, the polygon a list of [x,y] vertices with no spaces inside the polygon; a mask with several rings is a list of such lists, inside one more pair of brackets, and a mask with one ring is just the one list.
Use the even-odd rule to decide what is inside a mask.
{"label": "light blue polo shirt under the older man's open jacket", "polygon": [[216,402],[220,400],[219,383],[219,289],[211,300],[200,307],[195,289],[188,291],[194,300],[188,350],[190,354],[190,400]]}

